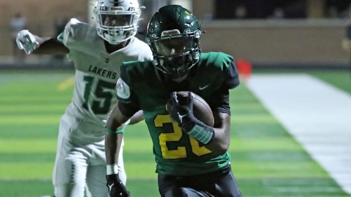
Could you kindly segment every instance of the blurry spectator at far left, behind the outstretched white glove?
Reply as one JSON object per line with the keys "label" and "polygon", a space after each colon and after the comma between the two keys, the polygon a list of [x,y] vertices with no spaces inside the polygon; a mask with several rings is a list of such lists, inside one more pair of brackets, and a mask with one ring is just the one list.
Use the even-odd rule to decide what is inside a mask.
{"label": "blurry spectator at far left, behind the outstretched white glove", "polygon": [[26,19],[20,13],[17,13],[10,22],[11,41],[13,45],[12,54],[16,60],[22,60],[25,57],[23,51],[18,50],[16,44],[16,36],[23,29],[26,29]]}

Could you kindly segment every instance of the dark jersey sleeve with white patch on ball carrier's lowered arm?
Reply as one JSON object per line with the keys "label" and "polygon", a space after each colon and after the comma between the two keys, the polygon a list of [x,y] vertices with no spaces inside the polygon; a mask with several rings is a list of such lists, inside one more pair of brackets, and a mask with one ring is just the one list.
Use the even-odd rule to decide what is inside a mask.
{"label": "dark jersey sleeve with white patch on ball carrier's lowered arm", "polygon": [[120,68],[120,71],[116,87],[118,108],[124,116],[131,117],[140,109],[139,98],[131,88],[130,79],[124,65]]}

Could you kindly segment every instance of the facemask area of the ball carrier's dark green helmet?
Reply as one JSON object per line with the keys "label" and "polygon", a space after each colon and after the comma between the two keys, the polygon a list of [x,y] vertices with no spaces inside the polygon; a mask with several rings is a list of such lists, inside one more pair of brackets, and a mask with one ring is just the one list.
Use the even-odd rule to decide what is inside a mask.
{"label": "facemask area of the ball carrier's dark green helmet", "polygon": [[149,37],[147,42],[154,53],[156,68],[174,81],[184,79],[199,60],[200,36],[200,30],[184,34],[170,30],[162,32],[160,37]]}

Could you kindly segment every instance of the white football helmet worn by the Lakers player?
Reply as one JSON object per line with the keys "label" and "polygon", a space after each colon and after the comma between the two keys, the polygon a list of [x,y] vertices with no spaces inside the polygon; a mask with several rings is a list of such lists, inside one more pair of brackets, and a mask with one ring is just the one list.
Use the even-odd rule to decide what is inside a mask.
{"label": "white football helmet worn by the Lakers player", "polygon": [[141,11],[137,0],[97,0],[94,8],[98,35],[119,44],[137,34]]}

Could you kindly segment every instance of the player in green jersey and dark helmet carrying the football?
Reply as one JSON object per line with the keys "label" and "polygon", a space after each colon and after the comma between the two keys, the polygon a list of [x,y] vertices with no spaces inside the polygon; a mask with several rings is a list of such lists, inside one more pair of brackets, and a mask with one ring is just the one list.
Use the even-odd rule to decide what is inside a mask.
{"label": "player in green jersey and dark helmet carrying the football", "polygon": [[[123,133],[117,128],[142,109],[162,197],[241,197],[227,152],[229,89],[239,85],[238,73],[232,56],[201,53],[200,36],[195,16],[179,5],[164,6],[150,19],[147,42],[154,60],[121,67],[119,101],[106,127],[106,160],[109,165],[118,163]],[[214,112],[215,125],[194,117],[192,93],[180,102],[176,91],[201,96]],[[128,194],[117,182],[108,185],[115,191],[111,197]]]}

